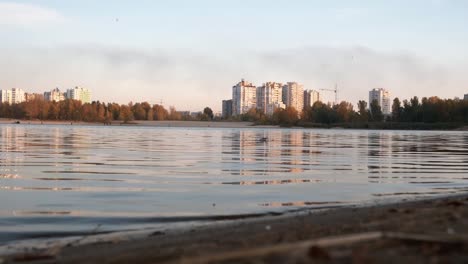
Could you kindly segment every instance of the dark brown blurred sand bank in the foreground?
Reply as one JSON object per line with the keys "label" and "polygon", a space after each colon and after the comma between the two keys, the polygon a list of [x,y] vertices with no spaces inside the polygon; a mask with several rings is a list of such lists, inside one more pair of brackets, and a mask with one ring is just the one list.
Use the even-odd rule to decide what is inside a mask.
{"label": "dark brown blurred sand bank in the foreground", "polygon": [[468,194],[289,213],[146,238],[32,250],[2,263],[466,263]]}

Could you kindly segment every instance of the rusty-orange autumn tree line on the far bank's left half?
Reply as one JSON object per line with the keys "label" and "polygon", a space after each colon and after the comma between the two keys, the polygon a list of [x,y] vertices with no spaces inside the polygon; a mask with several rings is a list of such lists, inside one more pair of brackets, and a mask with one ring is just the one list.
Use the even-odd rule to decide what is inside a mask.
{"label": "rusty-orange autumn tree line on the far bank's left half", "polygon": [[175,107],[165,109],[159,104],[142,103],[101,103],[95,101],[82,104],[81,101],[66,99],[63,101],[44,101],[35,99],[19,104],[0,103],[0,118],[26,120],[66,120],[84,122],[112,122],[120,120],[209,120],[213,111],[207,107],[199,115],[183,115]]}

